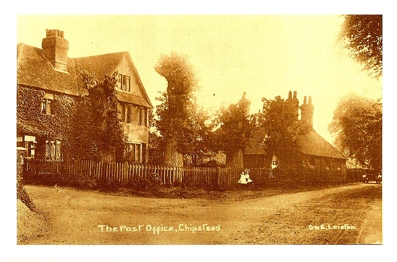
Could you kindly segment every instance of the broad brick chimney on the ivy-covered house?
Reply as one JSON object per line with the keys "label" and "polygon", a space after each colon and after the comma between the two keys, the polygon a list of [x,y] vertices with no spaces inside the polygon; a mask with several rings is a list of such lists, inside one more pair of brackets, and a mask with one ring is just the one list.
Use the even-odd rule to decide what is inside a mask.
{"label": "broad brick chimney on the ivy-covered house", "polygon": [[41,44],[44,55],[55,69],[67,72],[67,51],[69,42],[64,38],[64,32],[57,29],[46,30],[46,38]]}

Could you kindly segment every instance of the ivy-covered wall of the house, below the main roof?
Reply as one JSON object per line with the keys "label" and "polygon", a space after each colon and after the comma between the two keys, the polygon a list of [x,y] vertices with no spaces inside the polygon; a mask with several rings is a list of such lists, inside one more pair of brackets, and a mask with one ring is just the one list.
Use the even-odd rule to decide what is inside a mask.
{"label": "ivy-covered wall of the house, below the main roof", "polygon": [[35,136],[38,142],[36,157],[44,157],[44,143],[47,139],[62,139],[64,158],[70,151],[72,119],[78,98],[53,94],[51,114],[43,114],[42,100],[46,92],[26,86],[17,85],[16,119],[17,134]]}

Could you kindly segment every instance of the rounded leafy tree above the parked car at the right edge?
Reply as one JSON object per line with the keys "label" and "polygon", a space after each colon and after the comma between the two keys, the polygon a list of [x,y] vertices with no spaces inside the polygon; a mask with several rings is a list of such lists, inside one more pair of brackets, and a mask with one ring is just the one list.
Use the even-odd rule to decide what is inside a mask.
{"label": "rounded leafy tree above the parked car at the right edge", "polygon": [[333,112],[329,130],[337,147],[359,164],[382,169],[382,105],[356,94],[345,96]]}

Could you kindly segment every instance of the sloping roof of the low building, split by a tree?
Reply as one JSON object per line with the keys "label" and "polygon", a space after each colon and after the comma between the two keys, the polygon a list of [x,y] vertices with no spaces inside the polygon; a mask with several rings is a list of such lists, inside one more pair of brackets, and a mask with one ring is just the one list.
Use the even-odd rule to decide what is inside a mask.
{"label": "sloping roof of the low building, split by a tree", "polygon": [[[256,130],[250,139],[250,145],[245,148],[244,154],[265,154],[262,144],[264,139],[265,130],[263,128]],[[307,155],[346,159],[345,156],[321,137],[314,129],[303,135],[299,135],[298,145],[301,148],[301,152]]]}

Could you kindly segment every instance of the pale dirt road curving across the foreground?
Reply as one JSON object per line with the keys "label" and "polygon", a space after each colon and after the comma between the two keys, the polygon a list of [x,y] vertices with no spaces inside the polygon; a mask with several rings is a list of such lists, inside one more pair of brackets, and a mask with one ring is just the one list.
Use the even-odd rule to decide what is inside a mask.
{"label": "pale dirt road curving across the foreground", "polygon": [[[281,241],[290,232],[280,232],[277,226],[274,228],[274,225],[281,225],[284,228],[299,227],[298,231],[295,231],[302,237],[321,232],[325,234],[326,239],[327,236],[332,238],[332,234],[337,230],[326,233],[309,229],[309,222],[323,223],[323,220],[294,221],[289,214],[293,215],[292,218],[302,214],[305,217],[311,215],[318,217],[314,207],[318,203],[328,205],[334,198],[338,203],[333,204],[343,206],[345,210],[351,212],[343,213],[337,210],[333,218],[339,220],[328,219],[324,222],[332,225],[344,223],[338,216],[346,213],[360,214],[348,218],[352,221],[347,222],[355,225],[356,229],[353,231],[357,234],[351,239],[351,243],[346,244],[354,244],[357,241],[373,243],[374,239],[379,238],[373,237],[379,234],[379,223],[380,230],[382,228],[382,200],[379,201],[379,194],[375,194],[376,196],[370,194],[372,197],[359,199],[363,194],[368,195],[374,190],[381,192],[382,186],[374,184],[356,183],[344,187],[242,201],[153,199],[68,188],[55,189],[44,186],[25,186],[25,188],[37,208],[46,212],[50,226],[44,236],[22,244],[300,244],[310,241],[310,238],[304,238],[305,241],[302,241],[302,238],[295,238],[292,242]],[[349,194],[356,196],[354,198],[351,195],[356,199],[354,203],[350,201]],[[349,204],[355,206],[351,207]],[[320,211],[324,210],[317,210]],[[364,223],[367,215],[371,216],[368,220],[370,222]],[[275,217],[283,218],[277,220]],[[371,229],[363,226],[369,226]],[[200,227],[204,230],[195,230],[195,228],[199,230]],[[131,230],[127,231],[128,229]]]}

